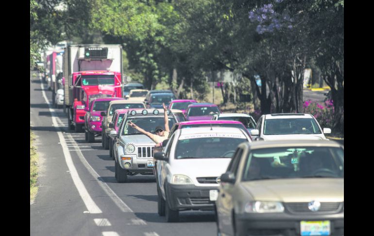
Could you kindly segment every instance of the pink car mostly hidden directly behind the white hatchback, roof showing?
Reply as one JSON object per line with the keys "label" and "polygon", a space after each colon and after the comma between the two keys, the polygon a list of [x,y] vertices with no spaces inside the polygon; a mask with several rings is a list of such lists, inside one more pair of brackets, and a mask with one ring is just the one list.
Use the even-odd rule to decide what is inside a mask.
{"label": "pink car mostly hidden directly behind the white hatchback, roof showing", "polygon": [[183,121],[177,122],[170,128],[169,137],[175,132],[175,130],[180,128],[192,128],[192,127],[236,127],[242,129],[252,140],[252,136],[249,133],[248,129],[243,125],[243,123],[239,121],[225,121],[225,120],[218,120],[218,121]]}

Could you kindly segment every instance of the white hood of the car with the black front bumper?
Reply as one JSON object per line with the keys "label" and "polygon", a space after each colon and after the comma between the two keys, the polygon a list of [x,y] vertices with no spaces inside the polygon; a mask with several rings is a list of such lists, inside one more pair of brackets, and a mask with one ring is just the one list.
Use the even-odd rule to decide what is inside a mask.
{"label": "white hood of the car with the black front bumper", "polygon": [[170,167],[173,175],[186,175],[196,186],[219,186],[218,183],[199,183],[196,178],[221,177],[230,161],[231,158],[174,159]]}

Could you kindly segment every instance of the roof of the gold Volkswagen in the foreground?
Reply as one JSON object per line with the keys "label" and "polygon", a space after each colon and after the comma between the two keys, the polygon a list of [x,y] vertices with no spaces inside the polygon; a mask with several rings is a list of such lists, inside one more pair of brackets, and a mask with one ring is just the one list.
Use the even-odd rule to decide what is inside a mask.
{"label": "roof of the gold Volkswagen in the foreground", "polygon": [[341,147],[338,142],[330,140],[279,140],[279,141],[257,141],[251,143],[251,149],[286,147],[286,146],[326,146]]}

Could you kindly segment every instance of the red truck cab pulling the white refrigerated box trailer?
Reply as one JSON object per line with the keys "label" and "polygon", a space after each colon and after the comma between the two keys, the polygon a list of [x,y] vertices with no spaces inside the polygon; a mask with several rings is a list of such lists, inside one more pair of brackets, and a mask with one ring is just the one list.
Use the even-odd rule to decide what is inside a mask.
{"label": "red truck cab pulling the white refrigerated box trailer", "polygon": [[85,124],[85,113],[89,103],[100,97],[122,98],[121,76],[119,72],[84,71],[71,75],[73,106],[68,109],[68,124],[70,129],[82,130]]}

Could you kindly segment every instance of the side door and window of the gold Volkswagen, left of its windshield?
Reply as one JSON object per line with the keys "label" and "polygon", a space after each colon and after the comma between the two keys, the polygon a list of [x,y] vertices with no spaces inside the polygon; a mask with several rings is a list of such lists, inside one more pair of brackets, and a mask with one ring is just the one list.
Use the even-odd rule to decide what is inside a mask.
{"label": "side door and window of the gold Volkswagen, left of its windshield", "polygon": [[[243,151],[244,150],[241,147],[238,147],[235,152],[234,158],[231,160],[229,166],[227,167],[227,171],[231,172],[234,176],[237,176],[237,169]],[[220,230],[222,233],[231,235],[234,234],[232,229],[232,213],[234,206],[233,195],[235,195],[234,188],[235,184],[222,182],[220,188],[221,191],[219,193],[219,200],[216,202]]]}

